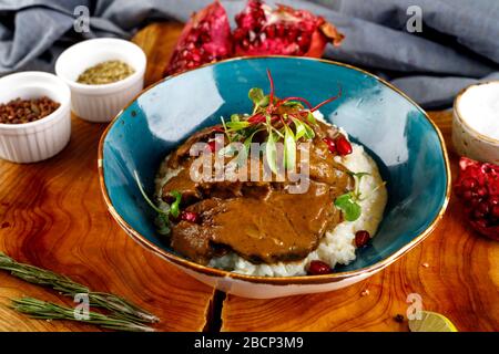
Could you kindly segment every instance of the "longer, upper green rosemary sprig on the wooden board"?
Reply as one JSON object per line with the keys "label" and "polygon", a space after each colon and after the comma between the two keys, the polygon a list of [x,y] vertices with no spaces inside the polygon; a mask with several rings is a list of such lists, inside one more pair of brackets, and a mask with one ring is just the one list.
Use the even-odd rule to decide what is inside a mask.
{"label": "longer, upper green rosemary sprig on the wooden board", "polygon": [[27,282],[52,288],[64,296],[74,298],[75,294],[85,293],[89,295],[89,303],[91,306],[109,310],[114,317],[123,321],[142,323],[155,323],[160,321],[152,313],[123,298],[109,293],[90,291],[89,288],[72,281],[68,277],[34,266],[17,262],[2,252],[0,252],[0,269],[9,271],[13,277]]}

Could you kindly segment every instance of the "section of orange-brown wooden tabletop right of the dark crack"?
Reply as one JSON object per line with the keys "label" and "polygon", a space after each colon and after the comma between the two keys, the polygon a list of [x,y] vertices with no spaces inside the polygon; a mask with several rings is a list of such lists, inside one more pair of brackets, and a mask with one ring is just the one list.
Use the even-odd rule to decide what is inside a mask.
{"label": "section of orange-brown wooden tabletop right of the dark crack", "polygon": [[[451,115],[431,112],[450,144]],[[449,148],[450,149],[450,148]],[[458,156],[450,150],[452,175]],[[227,296],[223,331],[408,331],[409,294],[459,331],[499,331],[499,243],[475,233],[455,196],[437,229],[381,272],[344,290],[276,300]]]}

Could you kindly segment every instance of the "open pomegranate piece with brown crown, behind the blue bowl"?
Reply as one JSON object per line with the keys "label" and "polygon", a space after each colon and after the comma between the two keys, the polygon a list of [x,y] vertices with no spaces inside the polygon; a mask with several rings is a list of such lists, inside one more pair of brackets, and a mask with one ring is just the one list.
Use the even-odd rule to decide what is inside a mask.
{"label": "open pomegranate piece with brown crown, behind the blue bowl", "polygon": [[344,35],[324,18],[279,4],[271,8],[249,0],[235,17],[236,55],[303,55],[320,58],[328,42],[339,45]]}

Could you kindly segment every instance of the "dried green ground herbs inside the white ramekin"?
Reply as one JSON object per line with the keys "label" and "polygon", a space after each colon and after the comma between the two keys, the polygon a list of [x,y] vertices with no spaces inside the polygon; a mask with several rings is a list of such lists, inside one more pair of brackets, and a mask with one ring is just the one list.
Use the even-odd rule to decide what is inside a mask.
{"label": "dried green ground herbs inside the white ramekin", "polygon": [[129,77],[135,71],[129,64],[110,60],[86,69],[78,76],[77,82],[86,85],[103,85]]}

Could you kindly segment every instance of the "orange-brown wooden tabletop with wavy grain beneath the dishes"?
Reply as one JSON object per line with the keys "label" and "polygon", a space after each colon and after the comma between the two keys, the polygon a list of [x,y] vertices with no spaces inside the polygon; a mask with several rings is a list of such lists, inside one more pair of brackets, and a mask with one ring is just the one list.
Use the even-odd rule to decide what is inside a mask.
{"label": "orange-brown wooden tabletop with wavy grain beneath the dishes", "polygon": [[[156,23],[134,37],[147,54],[147,84],[161,79],[181,28]],[[450,113],[430,116],[444,133],[456,176]],[[96,170],[105,125],[75,117],[72,123],[71,142],[58,156],[29,165],[0,162],[0,250],[136,302],[162,319],[160,331],[407,331],[394,316],[406,313],[410,293],[460,331],[499,331],[499,243],[466,225],[454,196],[428,239],[360,283],[275,300],[224,299],[136,244],[112,220]],[[18,314],[8,304],[21,295],[71,304],[0,272],[0,331],[95,331]]]}

